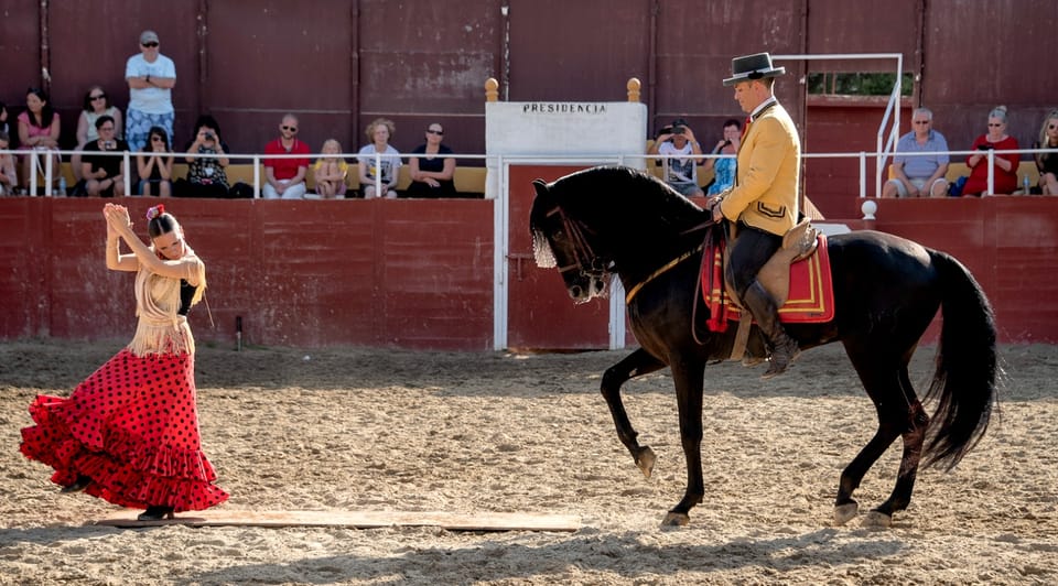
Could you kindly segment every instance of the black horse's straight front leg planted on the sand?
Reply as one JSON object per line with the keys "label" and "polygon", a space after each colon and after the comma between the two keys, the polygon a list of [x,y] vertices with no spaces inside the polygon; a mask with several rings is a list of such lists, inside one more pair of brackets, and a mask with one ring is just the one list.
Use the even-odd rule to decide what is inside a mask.
{"label": "black horse's straight front leg planted on the sand", "polygon": [[705,363],[697,359],[678,359],[669,365],[676,384],[676,402],[680,412],[680,442],[687,459],[687,490],[683,498],[665,516],[663,525],[685,525],[690,510],[702,502],[702,384]]}

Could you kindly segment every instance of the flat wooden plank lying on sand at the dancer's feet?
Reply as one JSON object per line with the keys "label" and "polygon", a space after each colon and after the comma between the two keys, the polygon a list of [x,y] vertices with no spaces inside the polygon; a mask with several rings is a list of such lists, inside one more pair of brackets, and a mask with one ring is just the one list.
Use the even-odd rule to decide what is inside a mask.
{"label": "flat wooden plank lying on sand at the dancer's feet", "polygon": [[581,519],[572,514],[451,513],[441,511],[238,511],[215,509],[177,513],[174,519],[138,521],[115,517],[89,524],[143,528],[168,524],[191,527],[438,527],[449,531],[576,531]]}

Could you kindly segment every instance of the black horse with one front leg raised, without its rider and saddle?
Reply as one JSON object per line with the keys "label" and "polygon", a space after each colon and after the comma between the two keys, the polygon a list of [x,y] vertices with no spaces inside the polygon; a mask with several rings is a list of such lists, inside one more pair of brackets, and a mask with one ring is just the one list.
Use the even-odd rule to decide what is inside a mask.
{"label": "black horse with one front leg raised, without its rider and saddle", "polygon": [[[626,167],[591,169],[551,184],[537,180],[533,186],[530,228],[538,265],[558,267],[575,302],[605,294],[612,272],[625,291],[638,289],[628,302],[628,321],[640,348],[606,370],[602,393],[617,436],[649,477],[656,456],[636,441],[620,387],[634,377],[671,369],[687,490],[665,524],[687,524],[690,509],[704,496],[705,365],[730,356],[737,329],[692,334],[695,304],[697,317],[709,312],[699,303],[695,284],[703,232],[714,229],[710,214],[655,177]],[[876,231],[833,236],[828,249],[833,321],[786,328],[802,349],[841,341],[877,411],[877,432],[841,474],[834,503],[839,524],[859,512],[852,495],[864,475],[897,437],[903,438],[896,487],[864,520],[888,525],[893,513],[910,502],[920,460],[950,469],[987,428],[996,401],[995,323],[980,285],[944,252]],[[943,326],[937,370],[926,395],[937,400],[930,417],[911,387],[907,366],[938,308]],[[752,337],[759,336],[754,332]]]}

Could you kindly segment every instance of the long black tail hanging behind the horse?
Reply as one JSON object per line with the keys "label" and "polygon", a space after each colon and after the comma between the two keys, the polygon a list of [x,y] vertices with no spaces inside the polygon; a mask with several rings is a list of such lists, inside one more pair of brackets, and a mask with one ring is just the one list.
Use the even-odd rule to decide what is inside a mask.
{"label": "long black tail hanging behind the horse", "polygon": [[926,400],[937,400],[924,466],[951,469],[981,441],[996,405],[995,317],[981,285],[951,256],[930,250],[940,274],[943,325],[937,371]]}

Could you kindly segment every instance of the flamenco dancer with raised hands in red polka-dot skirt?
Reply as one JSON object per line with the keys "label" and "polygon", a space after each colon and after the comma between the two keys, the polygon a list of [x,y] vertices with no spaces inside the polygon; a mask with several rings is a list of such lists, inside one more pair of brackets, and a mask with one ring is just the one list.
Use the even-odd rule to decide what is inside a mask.
{"label": "flamenco dancer with raised hands in red polka-dot skirt", "polygon": [[[68,399],[37,395],[36,425],[22,453],[55,468],[63,493],[85,491],[134,509],[138,519],[172,519],[224,502],[202,453],[195,408],[195,341],[187,311],[206,289],[206,269],[161,205],[147,213],[151,246],[132,231],[129,210],[107,204],[107,268],[136,272],[132,341],[77,386]],[[120,240],[132,250],[120,253]]]}

